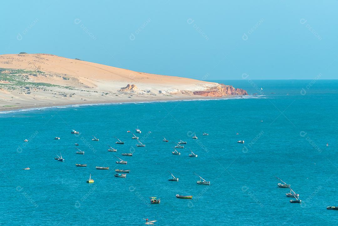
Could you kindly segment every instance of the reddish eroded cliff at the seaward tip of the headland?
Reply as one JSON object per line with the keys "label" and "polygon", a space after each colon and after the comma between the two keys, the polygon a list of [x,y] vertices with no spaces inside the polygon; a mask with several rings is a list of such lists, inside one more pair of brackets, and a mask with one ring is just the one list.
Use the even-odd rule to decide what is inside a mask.
{"label": "reddish eroded cliff at the seaward tip of the headland", "polygon": [[222,97],[227,95],[248,95],[248,93],[244,89],[235,89],[233,86],[228,86],[224,84],[219,84],[219,86],[216,86],[206,91],[195,91],[193,92],[193,94],[213,97]]}

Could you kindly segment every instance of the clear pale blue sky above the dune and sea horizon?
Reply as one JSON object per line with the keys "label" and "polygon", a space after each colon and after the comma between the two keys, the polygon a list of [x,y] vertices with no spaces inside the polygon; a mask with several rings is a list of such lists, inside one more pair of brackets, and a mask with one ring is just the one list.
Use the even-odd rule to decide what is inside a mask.
{"label": "clear pale blue sky above the dune and sea horizon", "polygon": [[338,1],[6,1],[0,54],[199,80],[337,76]]}

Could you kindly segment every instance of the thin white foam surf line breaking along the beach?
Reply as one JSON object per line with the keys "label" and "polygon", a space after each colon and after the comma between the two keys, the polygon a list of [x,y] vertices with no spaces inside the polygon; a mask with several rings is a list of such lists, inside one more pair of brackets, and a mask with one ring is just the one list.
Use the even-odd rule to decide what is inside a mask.
{"label": "thin white foam surf line breaking along the beach", "polygon": [[150,104],[150,103],[167,103],[167,102],[177,102],[177,101],[204,101],[204,100],[232,100],[232,99],[249,99],[249,98],[265,98],[258,96],[237,96],[232,98],[212,98],[212,99],[186,99],[186,100],[153,100],[153,101],[135,101],[135,102],[117,102],[117,103],[95,103],[95,104],[74,104],[74,105],[63,105],[63,106],[49,106],[49,107],[41,107],[41,108],[27,108],[27,109],[19,109],[13,111],[0,111],[0,114],[8,114],[15,112],[27,112],[27,111],[40,111],[52,108],[78,108],[82,106],[99,106],[99,105],[115,105],[115,104]]}

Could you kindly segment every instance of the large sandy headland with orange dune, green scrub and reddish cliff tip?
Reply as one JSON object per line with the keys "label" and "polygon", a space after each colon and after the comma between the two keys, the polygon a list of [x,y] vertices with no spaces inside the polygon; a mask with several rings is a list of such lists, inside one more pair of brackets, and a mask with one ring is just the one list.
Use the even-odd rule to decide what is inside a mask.
{"label": "large sandy headland with orange dune, green scrub and reddish cliff tip", "polygon": [[[128,85],[129,84],[129,85]],[[0,55],[0,109],[247,95],[232,86],[50,54]]]}

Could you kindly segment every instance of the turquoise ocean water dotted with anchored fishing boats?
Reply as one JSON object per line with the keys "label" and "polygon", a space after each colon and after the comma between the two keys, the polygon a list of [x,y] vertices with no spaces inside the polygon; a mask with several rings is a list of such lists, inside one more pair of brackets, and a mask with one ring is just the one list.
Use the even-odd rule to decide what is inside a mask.
{"label": "turquoise ocean water dotted with anchored fishing boats", "polygon": [[[338,205],[338,81],[218,82],[258,94],[2,112],[1,225],[144,225],[143,218],[155,225],[337,222],[338,211],[325,207]],[[137,126],[144,148],[126,133]],[[179,139],[187,141],[185,149],[172,155]],[[74,143],[84,155],[75,154]],[[108,152],[106,144],[118,151]],[[189,148],[197,158],[188,157]],[[54,160],[60,152],[64,162]],[[121,156],[128,152],[133,156]],[[116,164],[115,155],[128,164]],[[130,173],[116,178],[115,168]],[[168,171],[179,181],[168,181]],[[211,185],[197,185],[194,173]],[[86,183],[90,174],[93,184]],[[274,176],[291,184],[302,204],[290,203]],[[150,205],[150,196],[161,203]]]}

